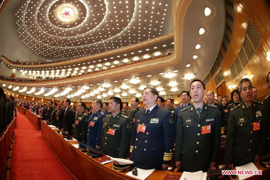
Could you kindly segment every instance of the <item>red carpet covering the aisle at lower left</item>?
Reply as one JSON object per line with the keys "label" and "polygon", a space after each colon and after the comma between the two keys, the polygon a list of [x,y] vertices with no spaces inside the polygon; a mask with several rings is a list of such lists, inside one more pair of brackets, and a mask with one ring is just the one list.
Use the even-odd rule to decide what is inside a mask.
{"label": "red carpet covering the aisle at lower left", "polygon": [[19,112],[16,121],[10,179],[73,179],[52,154],[41,131]]}

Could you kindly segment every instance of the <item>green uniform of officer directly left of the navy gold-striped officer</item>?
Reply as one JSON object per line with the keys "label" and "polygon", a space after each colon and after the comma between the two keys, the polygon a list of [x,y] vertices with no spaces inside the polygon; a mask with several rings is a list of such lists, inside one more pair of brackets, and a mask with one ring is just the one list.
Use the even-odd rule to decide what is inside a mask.
{"label": "green uniform of officer directly left of the navy gold-striped officer", "polygon": [[111,157],[127,157],[131,140],[131,122],[128,116],[119,112],[105,116],[102,125],[101,149]]}

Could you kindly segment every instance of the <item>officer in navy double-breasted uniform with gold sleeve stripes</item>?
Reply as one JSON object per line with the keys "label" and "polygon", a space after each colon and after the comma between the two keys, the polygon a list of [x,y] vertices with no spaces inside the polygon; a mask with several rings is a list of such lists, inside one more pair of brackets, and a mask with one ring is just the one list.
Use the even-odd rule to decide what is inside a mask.
{"label": "officer in navy double-breasted uniform with gold sleeve stripes", "polygon": [[158,91],[152,87],[143,90],[146,109],[137,112],[132,131],[130,159],[141,169],[168,169],[174,145],[172,113],[158,107]]}

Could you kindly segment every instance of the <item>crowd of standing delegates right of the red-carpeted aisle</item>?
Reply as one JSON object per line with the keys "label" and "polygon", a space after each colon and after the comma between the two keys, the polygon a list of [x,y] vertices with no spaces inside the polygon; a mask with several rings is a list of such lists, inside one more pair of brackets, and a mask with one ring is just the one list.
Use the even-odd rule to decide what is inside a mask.
{"label": "crowd of standing delegates right of the red-carpeted aisle", "polygon": [[[270,89],[269,78],[270,72],[266,78]],[[270,153],[270,93],[261,102],[250,79],[239,82],[229,102],[227,96],[220,95],[215,102],[214,92],[206,92],[198,79],[191,82],[190,93],[182,91],[180,95],[181,103],[167,99],[164,104],[155,88],[146,87],[142,93],[144,108],[138,98],[131,99],[128,106],[116,96],[109,102],[95,99],[90,107],[85,102],[70,106],[70,99],[59,104],[19,99],[15,103],[39,114],[81,145],[118,158],[127,158],[130,150],[130,160],[141,169],[166,170],[174,153],[180,172],[206,172],[219,159],[222,134],[227,136],[224,165],[229,168]]]}

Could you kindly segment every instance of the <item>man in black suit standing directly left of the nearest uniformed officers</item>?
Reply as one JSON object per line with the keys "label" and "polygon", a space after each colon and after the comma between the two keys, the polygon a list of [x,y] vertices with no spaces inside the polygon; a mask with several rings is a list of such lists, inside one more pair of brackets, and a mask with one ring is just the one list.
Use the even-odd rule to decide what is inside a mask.
{"label": "man in black suit standing directly left of the nearest uniformed officers", "polygon": [[65,99],[64,100],[64,107],[65,112],[64,112],[64,120],[63,120],[63,126],[62,126],[62,130],[66,133],[68,133],[69,135],[73,135],[73,122],[75,120],[75,116],[73,111],[70,108],[70,99]]}

